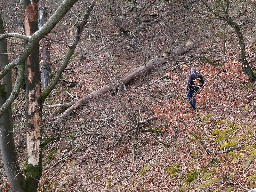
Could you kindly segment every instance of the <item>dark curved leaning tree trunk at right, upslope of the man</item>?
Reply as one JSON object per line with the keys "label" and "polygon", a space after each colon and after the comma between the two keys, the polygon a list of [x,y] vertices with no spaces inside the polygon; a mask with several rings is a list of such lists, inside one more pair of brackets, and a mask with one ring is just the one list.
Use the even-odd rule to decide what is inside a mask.
{"label": "dark curved leaning tree trunk at right, upslope of the man", "polygon": [[243,35],[242,35],[242,32],[241,32],[241,28],[230,17],[227,18],[226,22],[228,23],[228,25],[230,25],[236,31],[236,36],[238,38],[239,46],[240,46],[240,60],[241,60],[241,64],[244,66],[243,70],[244,70],[244,73],[253,82],[253,81],[256,80],[256,74],[252,71],[252,68],[250,67],[248,61],[246,60],[246,56],[245,56],[245,42],[244,42],[244,38],[243,38]]}

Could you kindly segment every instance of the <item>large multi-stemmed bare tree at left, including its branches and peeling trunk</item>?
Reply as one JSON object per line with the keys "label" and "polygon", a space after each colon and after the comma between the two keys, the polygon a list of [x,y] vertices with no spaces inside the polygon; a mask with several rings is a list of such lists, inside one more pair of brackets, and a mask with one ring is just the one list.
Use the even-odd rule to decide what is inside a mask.
{"label": "large multi-stemmed bare tree at left, including its branches and peeling trunk", "polygon": [[[88,24],[88,17],[92,12],[96,0],[93,0],[88,7],[84,17],[77,26],[77,36],[75,43],[69,46],[69,52],[61,65],[52,83],[41,92],[40,89],[40,73],[39,73],[39,41],[46,36],[57,23],[64,17],[69,9],[76,3],[77,0],[64,0],[59,8],[54,12],[52,17],[38,30],[38,0],[24,0],[24,33],[6,33],[4,34],[4,26],[1,20],[1,36],[0,36],[0,51],[7,53],[7,46],[5,39],[8,37],[16,37],[26,41],[26,45],[19,56],[8,64],[8,57],[1,57],[0,79],[3,79],[1,86],[1,108],[0,117],[2,122],[1,129],[1,153],[5,165],[5,171],[10,181],[13,191],[36,192],[38,182],[42,175],[42,147],[41,145],[41,125],[42,125],[42,107],[46,97],[57,84],[61,73],[66,68],[71,55],[75,51],[81,33],[85,24]],[[12,113],[11,104],[17,98],[20,92],[22,79],[24,77],[24,64],[26,66],[26,115],[27,115],[27,156],[22,169],[20,169],[17,161],[14,147],[14,137],[12,132]],[[17,77],[13,89],[10,84],[11,68],[17,66]],[[8,81],[8,83],[7,83]],[[43,143],[45,144],[45,143]],[[20,170],[25,172],[25,177],[22,177]]]}

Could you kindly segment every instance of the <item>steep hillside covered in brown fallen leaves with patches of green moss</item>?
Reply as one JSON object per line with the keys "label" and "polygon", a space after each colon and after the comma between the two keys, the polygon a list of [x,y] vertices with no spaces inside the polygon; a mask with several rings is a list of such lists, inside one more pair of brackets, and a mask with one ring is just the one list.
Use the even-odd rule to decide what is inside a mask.
{"label": "steep hillside covered in brown fallen leaves with patches of green moss", "polygon": [[[159,22],[144,22],[138,43],[136,25],[129,24],[135,13],[128,9],[130,4],[124,5],[99,2],[92,25],[86,28],[62,80],[46,100],[50,107],[44,108],[43,129],[50,137],[60,132],[61,135],[44,150],[39,191],[239,192],[246,191],[242,187],[256,188],[256,85],[244,79],[238,81],[241,74],[223,78],[220,74],[201,91],[201,95],[211,91],[215,95],[207,96],[195,111],[186,105],[189,69],[194,67],[206,73],[206,68],[211,68],[220,72],[225,66],[223,23],[175,4],[143,1],[143,21],[152,22],[150,19],[169,9],[171,13]],[[60,29],[65,31],[61,26]],[[250,43],[250,30],[249,26],[243,28],[247,59],[254,67],[256,46]],[[226,61],[238,61],[236,34],[228,26],[225,34]],[[149,71],[148,78],[146,74],[137,76],[125,89],[115,90],[116,93],[109,90],[92,98],[54,124],[67,108],[52,105],[75,101],[106,84],[121,81],[120,76],[144,65],[144,61],[161,57],[188,40],[196,44],[195,48],[161,66],[156,63],[157,70]],[[51,49],[55,73],[64,60],[66,47],[53,43]],[[177,67],[173,69],[174,66]],[[208,72],[204,78],[205,82],[211,80]],[[145,86],[147,80],[151,94]],[[134,128],[134,117],[137,122],[144,121],[152,117],[152,107],[157,115],[156,108],[174,105],[177,100],[180,108],[173,113],[184,110],[189,119],[184,118],[187,127],[180,120],[179,124],[168,126],[175,119],[170,115],[168,120],[156,116],[156,130],[152,121],[138,123]],[[25,101],[20,97],[15,102],[14,122],[23,127],[19,117],[25,110]],[[18,134],[17,148],[22,151],[24,138]]]}

